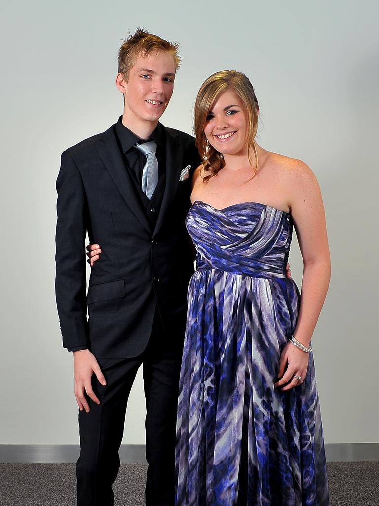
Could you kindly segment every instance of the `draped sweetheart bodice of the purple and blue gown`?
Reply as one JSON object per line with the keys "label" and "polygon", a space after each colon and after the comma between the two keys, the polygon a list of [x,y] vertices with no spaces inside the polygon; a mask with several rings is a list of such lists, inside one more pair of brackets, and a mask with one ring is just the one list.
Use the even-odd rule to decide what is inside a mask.
{"label": "draped sweetheart bodice of the purple and blue gown", "polygon": [[197,249],[197,269],[286,277],[293,230],[289,213],[259,202],[217,209],[196,200],[186,227]]}

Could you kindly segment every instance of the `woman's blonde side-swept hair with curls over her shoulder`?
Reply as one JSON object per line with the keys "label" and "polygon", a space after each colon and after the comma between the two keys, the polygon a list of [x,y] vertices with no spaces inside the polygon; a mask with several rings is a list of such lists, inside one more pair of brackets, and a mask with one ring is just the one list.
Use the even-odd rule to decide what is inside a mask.
{"label": "woman's blonde side-swept hair with curls over her shoulder", "polygon": [[[196,137],[196,146],[200,156],[203,158],[203,170],[209,172],[208,176],[203,178],[208,181],[215,176],[225,165],[223,156],[213,146],[207,142],[204,134],[207,116],[212,109],[214,102],[221,93],[230,90],[241,100],[248,116],[248,135],[247,145],[252,147],[255,155],[255,167],[253,176],[258,170],[258,153],[255,145],[255,136],[258,127],[259,105],[255,96],[254,88],[249,78],[242,72],[236,70],[221,70],[210,75],[202,84],[195,102],[195,124],[194,133]],[[249,153],[249,150],[248,150]],[[252,160],[249,156],[249,162]],[[250,180],[249,180],[250,181]]]}

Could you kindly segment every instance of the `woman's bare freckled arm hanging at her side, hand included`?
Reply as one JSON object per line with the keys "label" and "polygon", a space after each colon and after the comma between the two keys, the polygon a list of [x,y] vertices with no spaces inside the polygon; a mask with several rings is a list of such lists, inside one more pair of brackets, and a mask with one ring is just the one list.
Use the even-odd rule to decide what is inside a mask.
{"label": "woman's bare freckled arm hanging at her side, hand included", "polygon": [[[300,160],[292,161],[285,186],[290,195],[289,206],[304,263],[299,316],[294,337],[309,347],[330,279],[325,213],[318,182],[306,163]],[[289,342],[280,355],[280,379],[275,386],[289,390],[303,383],[308,359],[308,353]]]}

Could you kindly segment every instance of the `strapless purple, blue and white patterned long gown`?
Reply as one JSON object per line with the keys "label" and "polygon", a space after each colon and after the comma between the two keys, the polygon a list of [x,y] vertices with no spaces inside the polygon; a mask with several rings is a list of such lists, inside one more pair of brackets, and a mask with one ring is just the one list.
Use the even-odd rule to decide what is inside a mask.
{"label": "strapless purple, blue and white patterned long gown", "polygon": [[197,269],[180,372],[176,505],[327,506],[312,353],[303,384],[274,387],[299,307],[285,273],[291,215],[198,200],[186,226]]}

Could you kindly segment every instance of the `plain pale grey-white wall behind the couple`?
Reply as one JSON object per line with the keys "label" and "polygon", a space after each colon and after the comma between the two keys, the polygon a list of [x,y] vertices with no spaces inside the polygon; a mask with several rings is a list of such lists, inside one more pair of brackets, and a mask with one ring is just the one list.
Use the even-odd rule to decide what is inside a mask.
{"label": "plain pale grey-white wall behind the couple", "polygon": [[[164,124],[191,132],[203,80],[242,70],[260,144],[316,173],[333,262],[313,339],[325,442],[379,442],[377,3],[147,0],[138,14],[119,0],[24,0],[2,11],[0,444],[78,442],[54,300],[55,180],[62,150],[121,114],[117,51],[136,26],[181,45]],[[291,264],[300,282],[296,242]],[[124,443],[144,441],[139,375]]]}

